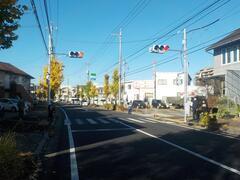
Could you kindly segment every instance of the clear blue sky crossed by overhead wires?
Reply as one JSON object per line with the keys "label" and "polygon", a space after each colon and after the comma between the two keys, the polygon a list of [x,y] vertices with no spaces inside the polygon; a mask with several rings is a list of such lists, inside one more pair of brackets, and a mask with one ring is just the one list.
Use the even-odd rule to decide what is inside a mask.
{"label": "clear blue sky crossed by overhead wires", "polygon": [[[203,10],[216,0],[47,0],[50,22],[53,25],[56,53],[83,51],[84,58],[73,59],[57,55],[64,64],[63,84],[75,86],[87,81],[87,67],[97,74],[96,84],[103,83],[104,74],[112,75],[118,62],[118,36],[122,29],[122,53],[126,62],[126,80],[152,79],[152,64],[157,63],[159,72],[183,71],[180,53],[183,29],[187,29],[189,49],[189,73],[194,76],[204,67],[213,66],[212,52],[206,46],[223,38],[224,34],[239,28],[240,1],[220,0],[207,11],[200,13],[183,26],[186,19]],[[47,52],[41,39],[30,0],[19,0],[29,10],[22,17],[21,27],[16,31],[18,40],[13,47],[1,50],[0,61],[9,62],[32,75],[34,83],[42,76],[48,63]],[[48,29],[43,1],[35,0],[37,12],[48,43]],[[216,22],[215,22],[216,21]],[[189,32],[196,28],[204,27]],[[166,35],[168,32],[170,32]],[[159,39],[159,40],[156,40]],[[156,42],[153,43],[153,41]],[[210,41],[212,40],[212,41]],[[205,44],[203,44],[205,43]],[[149,47],[167,44],[170,51],[153,54]],[[198,46],[199,45],[199,46]],[[195,49],[192,49],[195,47]],[[191,51],[199,50],[195,53]],[[138,54],[135,54],[142,49]],[[132,56],[133,55],[133,56]],[[177,59],[171,60],[173,57]],[[89,65],[88,65],[89,64]]]}

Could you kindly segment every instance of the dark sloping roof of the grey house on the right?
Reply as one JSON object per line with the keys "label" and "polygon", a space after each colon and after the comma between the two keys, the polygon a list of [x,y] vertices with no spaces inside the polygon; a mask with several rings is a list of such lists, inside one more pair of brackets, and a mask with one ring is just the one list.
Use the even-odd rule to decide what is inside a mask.
{"label": "dark sloping roof of the grey house on the right", "polygon": [[216,49],[218,47],[230,44],[232,42],[238,41],[240,40],[240,28],[236,29],[235,31],[233,31],[231,34],[229,34],[228,36],[224,37],[223,39],[219,40],[218,42],[210,45],[206,51],[210,51],[212,49]]}

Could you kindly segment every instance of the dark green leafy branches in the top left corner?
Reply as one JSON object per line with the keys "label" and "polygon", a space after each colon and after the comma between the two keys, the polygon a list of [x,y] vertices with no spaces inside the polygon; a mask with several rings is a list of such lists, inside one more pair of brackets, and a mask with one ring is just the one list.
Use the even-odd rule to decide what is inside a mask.
{"label": "dark green leafy branches in the top left corner", "polygon": [[18,0],[0,1],[0,49],[8,49],[18,36],[14,33],[20,26],[18,21],[27,6],[17,4]]}

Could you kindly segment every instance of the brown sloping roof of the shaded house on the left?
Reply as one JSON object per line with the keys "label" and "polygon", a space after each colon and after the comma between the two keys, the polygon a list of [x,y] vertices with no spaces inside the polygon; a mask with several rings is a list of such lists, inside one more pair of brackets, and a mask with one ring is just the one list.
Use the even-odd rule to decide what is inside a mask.
{"label": "brown sloping roof of the shaded house on the left", "polygon": [[0,62],[0,71],[9,72],[9,73],[13,73],[16,75],[21,75],[21,76],[25,76],[25,77],[34,79],[34,77],[30,76],[29,74],[22,71],[21,69],[18,69],[17,67],[13,66],[10,63]]}

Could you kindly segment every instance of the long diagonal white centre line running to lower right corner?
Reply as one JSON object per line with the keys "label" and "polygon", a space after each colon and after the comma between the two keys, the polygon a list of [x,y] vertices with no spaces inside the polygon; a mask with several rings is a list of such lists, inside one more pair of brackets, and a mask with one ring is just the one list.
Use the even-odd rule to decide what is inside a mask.
{"label": "long diagonal white centre line running to lower right corner", "polygon": [[233,172],[233,173],[235,173],[235,174],[240,175],[240,171],[237,170],[237,169],[234,169],[234,168],[232,168],[232,167],[226,166],[226,165],[224,165],[224,164],[222,164],[222,163],[219,163],[219,162],[217,162],[217,161],[215,161],[215,160],[213,160],[213,159],[207,158],[207,157],[205,157],[205,156],[203,156],[203,155],[201,155],[201,154],[199,154],[199,153],[193,152],[193,151],[188,150],[188,149],[186,149],[186,148],[184,148],[184,147],[181,147],[181,146],[179,146],[179,145],[177,145],[177,144],[174,144],[174,143],[172,143],[172,142],[170,142],[170,141],[164,140],[164,139],[162,139],[162,138],[160,138],[160,137],[157,137],[157,136],[155,136],[155,135],[153,135],[153,134],[147,133],[147,132],[145,132],[145,131],[143,131],[143,130],[141,130],[141,129],[136,129],[136,128],[134,128],[134,127],[132,127],[132,126],[130,126],[130,125],[128,125],[128,124],[125,124],[125,123],[123,123],[123,122],[119,122],[119,123],[122,124],[122,125],[124,125],[124,126],[127,126],[127,127],[129,127],[129,128],[133,128],[135,131],[137,131],[137,132],[139,132],[139,133],[142,133],[142,134],[145,134],[145,135],[147,135],[147,136],[149,136],[149,137],[152,137],[152,138],[154,138],[154,139],[160,140],[160,141],[162,141],[162,142],[164,142],[164,143],[166,143],[166,144],[168,144],[168,145],[171,145],[171,146],[173,146],[173,147],[175,147],[175,148],[178,148],[178,149],[180,149],[180,150],[182,150],[182,151],[185,151],[185,152],[187,152],[187,153],[189,153],[189,154],[191,154],[191,155],[193,155],[193,156],[196,156],[196,157],[198,157],[198,158],[200,158],[200,159],[202,159],[202,160],[205,160],[205,161],[207,161],[207,162],[209,162],[209,163],[212,163],[212,164],[214,164],[214,165],[216,165],[216,166],[219,166],[219,167],[221,167],[221,168],[223,168],[223,169],[229,170],[229,171],[231,171],[231,172]]}

